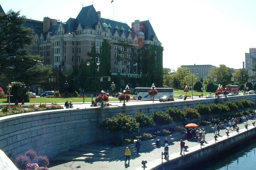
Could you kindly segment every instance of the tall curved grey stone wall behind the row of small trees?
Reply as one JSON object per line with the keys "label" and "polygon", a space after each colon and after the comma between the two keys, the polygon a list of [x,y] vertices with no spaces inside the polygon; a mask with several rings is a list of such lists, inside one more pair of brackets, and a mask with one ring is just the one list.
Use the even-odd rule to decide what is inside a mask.
{"label": "tall curved grey stone wall behind the row of small trees", "polygon": [[[228,97],[230,100],[246,99],[256,102],[256,95]],[[150,115],[153,111],[166,111],[169,107],[183,109],[195,107],[199,103],[211,104],[224,102],[224,98],[204,100],[186,100],[180,102],[162,102],[136,106],[92,107],[85,109],[61,109],[23,113],[0,118],[0,149],[11,159],[33,149],[38,155],[51,158],[58,153],[79,146],[83,143],[109,139],[110,134],[100,128],[106,117],[116,116],[120,112],[134,115],[144,112]]]}

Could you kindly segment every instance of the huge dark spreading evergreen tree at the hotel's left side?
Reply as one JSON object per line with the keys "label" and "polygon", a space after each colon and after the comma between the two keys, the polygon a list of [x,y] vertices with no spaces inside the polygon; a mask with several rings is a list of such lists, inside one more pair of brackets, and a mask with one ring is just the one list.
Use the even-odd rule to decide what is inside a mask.
{"label": "huge dark spreading evergreen tree at the hotel's left side", "polygon": [[40,56],[20,50],[32,44],[34,35],[32,29],[23,27],[26,17],[19,15],[12,10],[0,13],[0,79],[11,77],[27,84],[45,81],[52,74],[51,67],[39,65]]}

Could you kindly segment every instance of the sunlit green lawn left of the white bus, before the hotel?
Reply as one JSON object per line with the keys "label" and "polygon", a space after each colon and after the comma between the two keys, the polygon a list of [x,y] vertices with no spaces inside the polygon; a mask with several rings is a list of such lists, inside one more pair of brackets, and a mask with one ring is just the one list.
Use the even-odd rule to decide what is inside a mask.
{"label": "sunlit green lawn left of the white bus, before the hotel", "polygon": [[[94,101],[95,101],[95,97],[93,98]],[[72,100],[72,102],[80,102],[82,103],[83,102],[83,97],[71,97],[71,98],[48,98],[48,97],[37,97],[37,98],[31,98],[30,99],[30,102],[28,103],[65,103],[65,101],[68,100]],[[110,101],[118,101],[118,98],[110,98]],[[85,97],[85,102],[91,102],[91,97]],[[7,102],[7,99],[6,98],[1,98],[0,99],[0,103],[6,103],[8,104]],[[21,103],[19,103],[21,104]],[[25,103],[26,104],[26,103]]]}

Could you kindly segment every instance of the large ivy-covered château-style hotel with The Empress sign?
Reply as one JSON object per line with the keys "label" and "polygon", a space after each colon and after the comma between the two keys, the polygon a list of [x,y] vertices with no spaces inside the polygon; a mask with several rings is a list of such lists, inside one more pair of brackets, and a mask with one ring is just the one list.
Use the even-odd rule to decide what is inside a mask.
{"label": "large ivy-covered ch\u00e2teau-style hotel with The Empress sign", "polygon": [[[91,77],[93,70],[96,75],[110,76],[119,87],[162,86],[163,47],[149,21],[135,20],[130,28],[126,23],[101,18],[101,12],[91,5],[64,23],[45,17],[43,21],[28,19],[25,27],[33,28],[37,39],[25,48],[40,55],[42,64],[51,65],[55,71],[45,85],[48,88],[44,87],[47,90],[49,86],[62,88],[65,80],[81,87],[81,77]],[[101,64],[93,69],[86,66],[95,56],[94,62]]]}

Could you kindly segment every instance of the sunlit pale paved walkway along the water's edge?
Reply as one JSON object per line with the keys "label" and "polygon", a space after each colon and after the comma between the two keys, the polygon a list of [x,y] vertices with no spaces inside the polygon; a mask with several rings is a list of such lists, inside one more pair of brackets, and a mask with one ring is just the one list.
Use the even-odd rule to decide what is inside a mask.
{"label": "sunlit pale paved walkway along the water's edge", "polygon": [[[249,120],[248,124],[249,126],[252,126],[252,122],[254,120]],[[205,126],[204,126],[205,127]],[[238,127],[240,130],[245,129],[245,124],[239,123]],[[212,143],[214,142],[214,134],[213,134],[213,129],[212,128],[206,128],[207,131],[207,135],[206,135],[206,141],[207,143]],[[207,130],[209,129],[209,130]],[[228,128],[229,129],[229,128]],[[232,128],[233,129],[233,128]],[[222,128],[220,130],[220,137],[226,137],[226,129]],[[230,135],[232,133],[237,133],[236,131],[230,130]],[[120,149],[123,150],[123,156],[121,155],[121,157],[119,159],[116,160],[111,160],[111,161],[102,161],[102,162],[54,162],[54,163],[50,163],[49,169],[50,170],[98,170],[98,169],[104,169],[104,170],[120,170],[120,169],[130,169],[130,170],[135,170],[135,169],[142,169],[142,160],[146,160],[148,162],[148,165],[154,165],[154,162],[157,163],[159,162],[159,160],[161,160],[161,152],[164,152],[164,137],[159,137],[161,140],[161,146],[160,148],[154,148],[154,149],[150,149],[150,151],[148,152],[143,152],[141,153],[141,155],[138,154],[133,154],[130,157],[130,164],[125,164],[124,160],[125,160],[125,156],[124,156],[124,151],[126,146],[120,147]],[[168,140],[170,141],[170,137],[168,138]],[[169,142],[170,143],[170,142]],[[185,139],[185,143],[186,145],[189,147],[187,153],[189,153],[189,150],[191,147],[196,146],[196,148],[200,147],[200,144],[197,143],[196,141],[193,140],[187,140]],[[207,143],[205,143],[204,145],[207,145]],[[143,141],[142,141],[142,147],[143,147]],[[180,152],[180,142],[179,141],[175,141],[173,143],[170,143],[169,145],[169,154],[170,154],[170,158],[172,157],[178,157],[179,156],[179,152]],[[185,152],[186,154],[186,152]]]}

